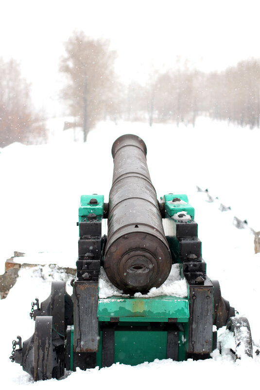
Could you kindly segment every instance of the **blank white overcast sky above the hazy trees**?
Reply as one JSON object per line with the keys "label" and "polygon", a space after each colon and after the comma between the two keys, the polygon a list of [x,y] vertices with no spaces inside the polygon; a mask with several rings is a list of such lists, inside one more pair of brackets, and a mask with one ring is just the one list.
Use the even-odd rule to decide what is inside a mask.
{"label": "blank white overcast sky above the hazy trees", "polygon": [[201,70],[221,70],[260,57],[259,0],[1,0],[0,56],[16,58],[32,82],[38,108],[59,113],[58,73],[74,30],[107,38],[121,79],[145,81],[176,57]]}

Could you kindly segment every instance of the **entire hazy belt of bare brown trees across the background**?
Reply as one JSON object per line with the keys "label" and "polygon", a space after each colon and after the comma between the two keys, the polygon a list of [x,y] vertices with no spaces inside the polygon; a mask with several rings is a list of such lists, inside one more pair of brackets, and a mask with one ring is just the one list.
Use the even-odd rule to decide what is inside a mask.
{"label": "entire hazy belt of bare brown trees across the background", "polygon": [[[74,32],[65,43],[60,72],[60,97],[66,116],[82,127],[84,141],[95,125],[107,118],[128,121],[192,123],[198,115],[228,120],[251,129],[260,126],[260,60],[248,59],[222,72],[203,73],[175,66],[150,75],[145,85],[119,82],[114,70],[117,53],[109,42]],[[42,115],[35,111],[30,84],[20,65],[0,58],[0,147],[46,138]]]}

